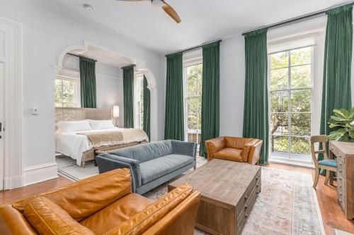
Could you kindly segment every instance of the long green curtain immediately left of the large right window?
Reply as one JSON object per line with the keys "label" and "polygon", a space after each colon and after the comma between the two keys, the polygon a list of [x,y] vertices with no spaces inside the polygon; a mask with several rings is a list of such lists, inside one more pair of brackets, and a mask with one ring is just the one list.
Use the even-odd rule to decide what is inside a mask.
{"label": "long green curtain immediately left of the large right window", "polygon": [[267,29],[245,35],[246,78],[244,131],[247,138],[263,140],[259,164],[268,164]]}

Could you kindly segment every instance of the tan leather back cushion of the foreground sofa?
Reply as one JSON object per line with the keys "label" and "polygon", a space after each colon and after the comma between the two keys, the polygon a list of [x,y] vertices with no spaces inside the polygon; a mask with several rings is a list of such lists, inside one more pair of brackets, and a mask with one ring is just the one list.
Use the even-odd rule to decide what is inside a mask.
{"label": "tan leather back cushion of the foreground sofa", "polygon": [[[73,219],[81,221],[130,193],[130,169],[115,169],[31,198],[45,196],[67,211]],[[31,198],[18,201],[13,207],[23,212],[23,205]]]}

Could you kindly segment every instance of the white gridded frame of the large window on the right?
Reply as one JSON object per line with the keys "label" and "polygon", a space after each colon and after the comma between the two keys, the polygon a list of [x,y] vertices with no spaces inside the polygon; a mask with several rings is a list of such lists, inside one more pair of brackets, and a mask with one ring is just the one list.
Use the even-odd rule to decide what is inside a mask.
{"label": "white gridded frame of the large window on the right", "polygon": [[[293,39],[293,40],[297,40],[297,38]],[[292,40],[289,40],[289,42],[291,43]],[[276,44],[275,44],[276,45]],[[308,48],[308,47],[311,47],[311,64],[301,64],[301,65],[295,65],[295,66],[292,66],[291,65],[291,52],[296,50],[296,49],[303,49],[303,48]],[[316,44],[309,44],[309,45],[305,45],[305,46],[302,46],[302,47],[290,47],[290,48],[287,48],[287,49],[284,49],[284,50],[280,50],[280,51],[275,51],[275,52],[271,52],[271,53],[268,53],[267,55],[267,61],[268,61],[268,78],[267,78],[267,85],[268,85],[268,125],[270,126],[270,123],[271,123],[271,114],[281,114],[281,113],[285,113],[288,115],[288,118],[287,118],[287,135],[278,135],[278,136],[287,136],[287,158],[285,157],[277,157],[277,156],[273,156],[272,155],[272,150],[271,150],[271,146],[269,147],[268,149],[268,152],[269,152],[269,158],[270,160],[275,160],[275,161],[285,161],[285,162],[293,162],[293,163],[299,163],[299,164],[313,164],[313,160],[312,160],[312,157],[311,157],[311,153],[309,154],[309,161],[305,161],[305,160],[300,160],[300,159],[292,159],[291,155],[292,155],[292,152],[291,152],[291,138],[292,137],[311,137],[311,135],[314,134],[314,66],[315,66],[315,63],[314,63],[314,60],[315,60],[315,49],[316,49]],[[287,66],[283,67],[283,68],[287,68],[287,79],[288,79],[288,88],[285,88],[285,89],[278,89],[278,90],[270,90],[270,72],[272,71],[272,68],[271,68],[271,55],[272,54],[278,54],[278,53],[281,53],[281,52],[287,52],[288,54],[288,64]],[[311,69],[310,69],[310,76],[311,76],[311,81],[310,81],[310,84],[309,84],[309,87],[307,88],[292,88],[291,87],[291,80],[292,80],[292,77],[291,77],[291,69],[293,67],[297,67],[297,66],[306,66],[306,65],[310,65],[311,66]],[[275,69],[280,69],[280,68],[275,68]],[[311,92],[311,104],[310,104],[310,112],[292,112],[291,111],[291,96],[292,96],[292,92],[295,91],[295,90],[310,90]],[[271,112],[271,100],[270,100],[270,97],[271,97],[271,92],[280,92],[280,91],[287,91],[288,92],[288,107],[287,107],[287,112]],[[311,118],[311,121],[310,121],[310,135],[292,135],[292,123],[291,123],[291,115],[290,114],[310,114],[310,118]],[[271,137],[273,134],[270,133],[270,130],[269,130],[269,138],[268,138],[268,141],[269,141],[269,145],[271,145]],[[274,135],[273,135],[274,136]]]}

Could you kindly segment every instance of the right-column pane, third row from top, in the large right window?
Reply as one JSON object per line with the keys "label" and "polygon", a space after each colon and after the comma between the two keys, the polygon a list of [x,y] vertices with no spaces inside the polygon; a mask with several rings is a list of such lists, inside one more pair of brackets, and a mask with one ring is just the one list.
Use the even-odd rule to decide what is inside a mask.
{"label": "right-column pane, third row from top, in the large right window", "polygon": [[311,112],[311,90],[291,91],[291,111]]}

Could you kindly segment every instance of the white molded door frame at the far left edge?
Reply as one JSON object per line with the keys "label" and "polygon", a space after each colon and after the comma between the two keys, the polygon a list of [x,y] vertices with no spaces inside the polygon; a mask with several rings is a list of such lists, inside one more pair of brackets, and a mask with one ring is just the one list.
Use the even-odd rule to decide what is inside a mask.
{"label": "white molded door frame at the far left edge", "polygon": [[0,16],[4,35],[4,189],[23,186],[23,25]]}

